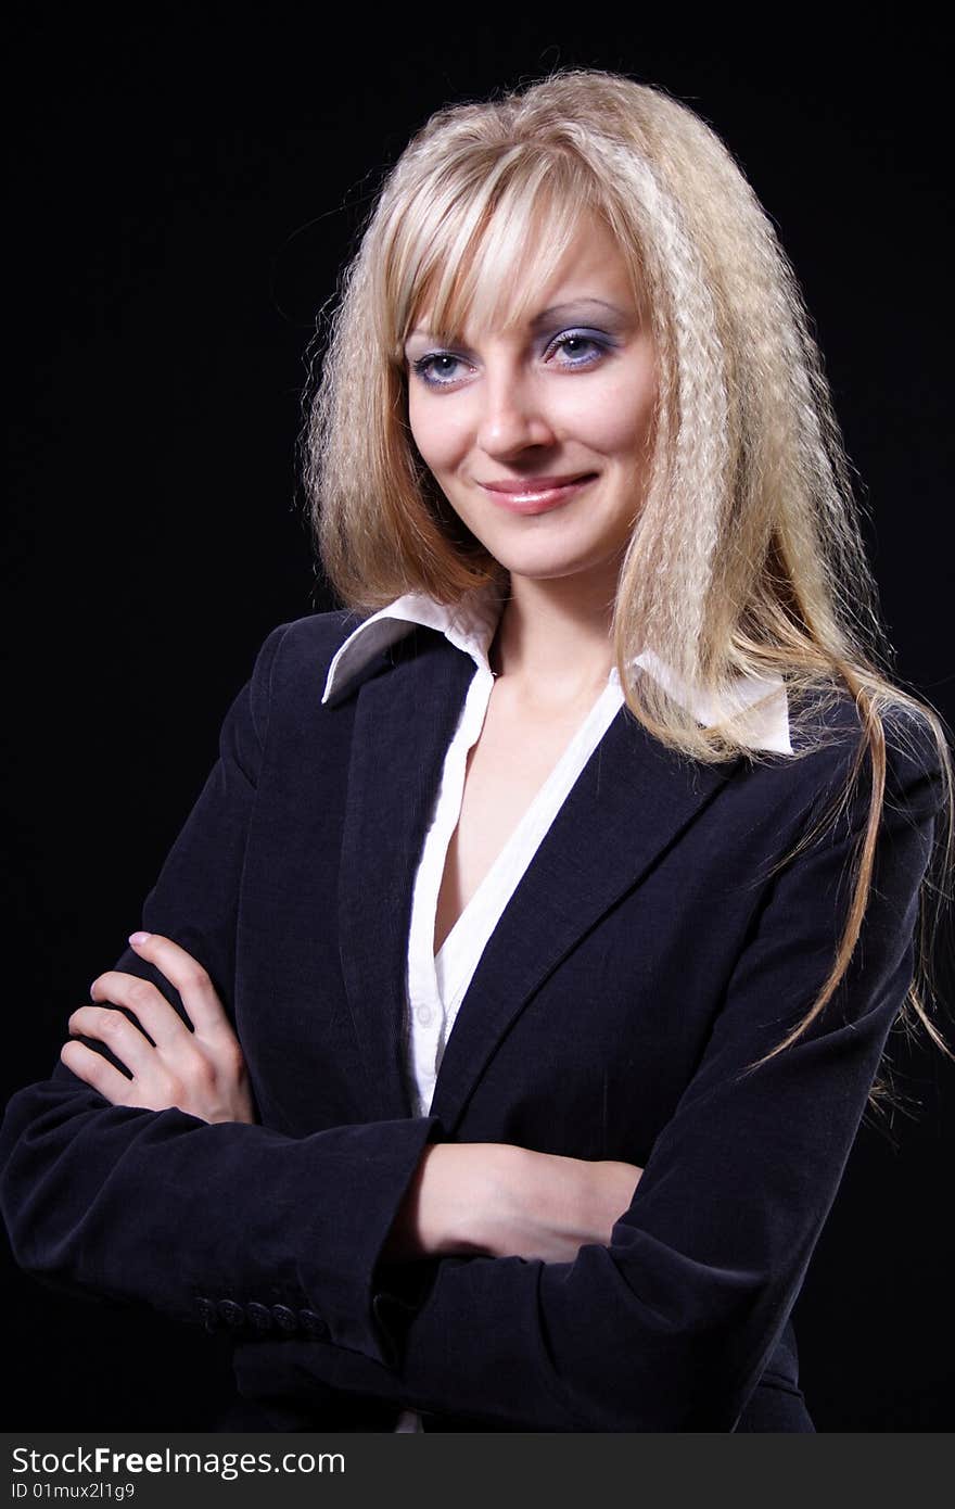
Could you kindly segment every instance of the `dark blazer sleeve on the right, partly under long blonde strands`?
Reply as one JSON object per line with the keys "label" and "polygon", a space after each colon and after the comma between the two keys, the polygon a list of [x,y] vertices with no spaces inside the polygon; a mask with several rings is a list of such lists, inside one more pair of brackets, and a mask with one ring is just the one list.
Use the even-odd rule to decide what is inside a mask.
{"label": "dark blazer sleeve on the right, partly under long blonde strands", "polygon": [[[913,978],[919,886],[943,788],[934,748],[899,745],[889,761],[872,893],[848,976],[794,1046],[742,1073],[801,1019],[828,975],[864,791],[769,881],[697,1071],[610,1245],[585,1245],[569,1263],[385,1265],[374,1304],[400,1366],[318,1343],[300,1349],[302,1369],[490,1429],[735,1428],[798,1296]],[[839,776],[846,773],[842,762]],[[259,1345],[269,1346],[255,1343],[237,1360],[240,1387],[243,1370],[253,1385],[269,1366]]]}

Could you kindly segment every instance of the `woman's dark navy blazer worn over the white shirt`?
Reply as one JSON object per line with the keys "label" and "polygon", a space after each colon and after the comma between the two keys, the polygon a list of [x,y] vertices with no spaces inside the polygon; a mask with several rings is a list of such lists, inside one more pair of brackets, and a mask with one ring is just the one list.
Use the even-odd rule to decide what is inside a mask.
{"label": "woman's dark navy blazer worn over the white shirt", "polygon": [[[355,620],[279,625],[143,907],[232,1016],[258,1126],[110,1106],[57,1064],[15,1094],[0,1198],[47,1281],[232,1328],[244,1415],[276,1429],[812,1431],[789,1314],[913,970],[941,804],[923,729],[890,724],[872,898],[834,958],[866,786],[828,747],[699,767],[622,709],[490,939],[431,1114],[401,1070],[412,878],[474,662],[431,629],[327,705]],[[798,745],[797,753],[798,753]],[[177,991],[127,949],[116,969]],[[644,1168],[573,1263],[380,1260],[424,1147],[514,1142]]]}

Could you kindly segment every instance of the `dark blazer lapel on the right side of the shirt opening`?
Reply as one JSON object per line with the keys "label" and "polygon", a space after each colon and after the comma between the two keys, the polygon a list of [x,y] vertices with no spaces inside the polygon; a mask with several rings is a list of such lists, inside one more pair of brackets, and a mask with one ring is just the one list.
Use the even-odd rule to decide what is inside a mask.
{"label": "dark blazer lapel on the right side of the shirt opening", "polygon": [[533,993],[739,764],[691,765],[620,709],[525,871],[462,1000],[431,1102],[448,1135]]}

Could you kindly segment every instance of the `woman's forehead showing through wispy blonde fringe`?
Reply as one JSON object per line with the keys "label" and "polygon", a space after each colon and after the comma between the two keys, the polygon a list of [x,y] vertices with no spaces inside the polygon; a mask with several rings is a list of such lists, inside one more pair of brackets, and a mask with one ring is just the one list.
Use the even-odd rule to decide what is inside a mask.
{"label": "woman's forehead showing through wispy blonde fringe", "polygon": [[[409,333],[508,330],[557,309],[581,318],[585,300],[634,306],[634,269],[596,214],[578,211],[563,226],[540,217],[528,231],[510,244],[505,237],[495,243],[484,234],[457,269],[436,263],[413,302]],[[581,305],[579,314],[575,305]]]}

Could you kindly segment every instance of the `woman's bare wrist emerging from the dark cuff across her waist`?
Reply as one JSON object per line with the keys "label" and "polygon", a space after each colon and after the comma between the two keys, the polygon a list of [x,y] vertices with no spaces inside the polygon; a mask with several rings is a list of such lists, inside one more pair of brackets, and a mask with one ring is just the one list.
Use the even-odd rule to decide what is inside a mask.
{"label": "woman's bare wrist emerging from the dark cuff across her waist", "polygon": [[471,1254],[573,1262],[611,1240],[643,1169],[536,1153],[508,1142],[436,1142],[425,1148],[383,1257]]}

